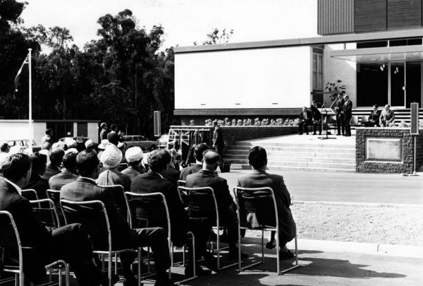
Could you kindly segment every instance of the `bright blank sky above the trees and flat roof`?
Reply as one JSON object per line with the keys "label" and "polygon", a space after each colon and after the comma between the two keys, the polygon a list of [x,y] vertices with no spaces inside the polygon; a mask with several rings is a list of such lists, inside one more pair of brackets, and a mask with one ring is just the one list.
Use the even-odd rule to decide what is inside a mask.
{"label": "bright blank sky above the trees and flat roof", "polygon": [[161,24],[164,48],[191,46],[214,27],[233,29],[231,42],[317,36],[317,0],[27,0],[25,26],[71,31],[82,47],[97,37],[97,19],[129,8],[147,31]]}

